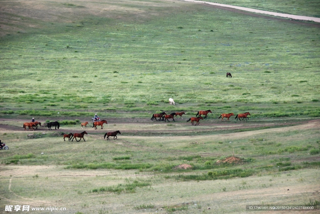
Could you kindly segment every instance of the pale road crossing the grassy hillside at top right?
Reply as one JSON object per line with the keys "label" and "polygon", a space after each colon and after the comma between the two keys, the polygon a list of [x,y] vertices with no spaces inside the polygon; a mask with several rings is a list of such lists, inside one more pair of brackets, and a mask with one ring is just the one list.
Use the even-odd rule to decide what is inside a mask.
{"label": "pale road crossing the grassy hillside at top right", "polygon": [[296,20],[320,22],[320,18],[310,17],[310,16],[298,16],[298,15],[292,15],[292,14],[286,14],[286,13],[262,11],[262,10],[248,8],[248,7],[239,7],[239,6],[229,5],[229,4],[219,4],[219,3],[205,2],[205,1],[196,1],[196,0],[179,0],[179,1],[194,2],[194,3],[204,3],[204,4],[210,4],[210,5],[214,5],[214,6],[219,6],[221,8],[233,8],[233,9],[237,9],[237,10],[241,10],[241,11],[262,13],[262,14],[267,14],[267,15],[272,15],[272,16],[292,18],[292,19],[296,19]]}

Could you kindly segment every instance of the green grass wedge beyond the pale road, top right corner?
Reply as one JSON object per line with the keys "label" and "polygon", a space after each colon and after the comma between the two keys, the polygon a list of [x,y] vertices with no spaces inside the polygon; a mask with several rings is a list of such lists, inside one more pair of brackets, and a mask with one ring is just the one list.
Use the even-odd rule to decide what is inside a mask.
{"label": "green grass wedge beyond the pale road, top right corner", "polygon": [[220,4],[230,4],[241,7],[272,11],[278,13],[288,13],[300,16],[320,17],[320,3],[315,0],[307,1],[276,1],[276,0],[208,0]]}

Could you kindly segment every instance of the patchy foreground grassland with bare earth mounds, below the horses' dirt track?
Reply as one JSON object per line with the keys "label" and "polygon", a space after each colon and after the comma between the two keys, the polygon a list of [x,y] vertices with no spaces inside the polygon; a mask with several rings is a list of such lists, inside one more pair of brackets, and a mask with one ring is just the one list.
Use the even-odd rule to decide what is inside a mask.
{"label": "patchy foreground grassland with bare earth mounds, below the horses' dirt track", "polygon": [[[260,119],[246,125],[254,127],[254,120]],[[273,123],[284,121],[264,125]],[[9,145],[0,159],[2,206],[14,200],[32,206],[63,206],[66,213],[141,213],[144,209],[148,213],[239,213],[245,204],[318,201],[318,120],[242,132],[230,126],[228,134],[199,135],[194,130],[192,136],[189,124],[168,127],[148,122],[141,130],[166,126],[171,132],[132,136],[130,131],[139,125],[106,125],[107,130],[118,126],[125,130],[110,141],[103,140],[104,131],[89,128],[86,142],[63,142],[52,135],[55,131],[44,128],[33,132],[40,136],[36,138],[27,137],[30,132],[2,128],[1,139]],[[60,127],[67,130],[81,129],[79,125]],[[172,135],[177,131],[184,134]],[[216,163],[233,154],[243,161]],[[173,169],[182,163],[192,169]]]}

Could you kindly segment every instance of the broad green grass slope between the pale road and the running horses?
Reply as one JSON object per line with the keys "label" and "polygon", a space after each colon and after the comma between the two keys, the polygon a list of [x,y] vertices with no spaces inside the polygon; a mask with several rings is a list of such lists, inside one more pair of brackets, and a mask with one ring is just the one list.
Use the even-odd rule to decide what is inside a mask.
{"label": "broad green grass slope between the pale road and the running horses", "polygon": [[[1,23],[4,108],[159,110],[172,97],[195,111],[320,100],[317,27],[184,2],[2,4],[16,10]],[[30,17],[26,8],[45,9]],[[57,13],[50,21],[48,10]]]}

